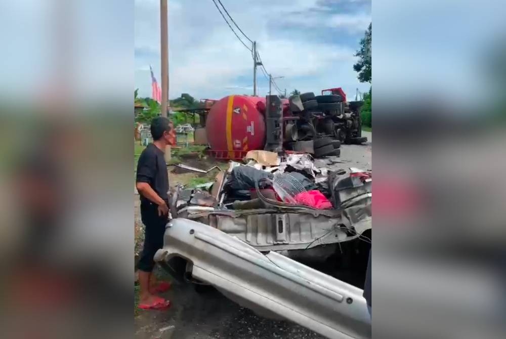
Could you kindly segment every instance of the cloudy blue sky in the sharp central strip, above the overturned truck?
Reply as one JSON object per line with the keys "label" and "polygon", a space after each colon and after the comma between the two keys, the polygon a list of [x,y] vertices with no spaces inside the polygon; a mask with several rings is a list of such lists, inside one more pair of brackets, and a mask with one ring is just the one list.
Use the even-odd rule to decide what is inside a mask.
{"label": "cloudy blue sky in the sharp central strip, above the overturned truck", "polygon": [[[258,41],[265,67],[289,93],[343,87],[365,92],[353,70],[371,22],[370,0],[222,0],[241,29]],[[159,1],[135,0],[135,87],[151,96],[149,65],[160,81]],[[252,93],[251,54],[212,0],[169,0],[170,98]],[[246,39],[244,39],[247,42]],[[258,74],[259,95],[269,84]]]}

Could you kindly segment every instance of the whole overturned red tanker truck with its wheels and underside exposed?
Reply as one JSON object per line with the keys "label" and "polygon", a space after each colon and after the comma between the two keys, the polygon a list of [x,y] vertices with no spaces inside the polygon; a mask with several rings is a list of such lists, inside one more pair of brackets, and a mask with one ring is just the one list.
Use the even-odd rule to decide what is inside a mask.
{"label": "whole overturned red tanker truck with its wheels and underside exposed", "polygon": [[361,144],[362,101],[346,101],[341,88],[277,96],[230,95],[207,100],[198,110],[210,151],[217,158],[241,159],[249,150],[290,150],[315,157],[339,156],[340,145]]}

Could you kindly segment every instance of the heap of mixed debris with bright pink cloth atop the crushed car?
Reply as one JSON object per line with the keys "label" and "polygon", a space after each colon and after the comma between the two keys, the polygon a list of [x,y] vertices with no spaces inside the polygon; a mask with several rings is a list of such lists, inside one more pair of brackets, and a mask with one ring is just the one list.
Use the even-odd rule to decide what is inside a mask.
{"label": "heap of mixed debris with bright pink cloth atop the crushed car", "polygon": [[[200,173],[219,168],[204,171],[184,164],[177,166]],[[358,204],[370,209],[371,172],[341,166],[342,161],[334,156],[314,159],[308,153],[250,151],[243,163],[231,160],[226,171],[219,168],[214,183],[193,189],[181,187],[176,210],[188,217],[189,211],[196,215],[209,211],[220,214],[291,206],[338,210]]]}

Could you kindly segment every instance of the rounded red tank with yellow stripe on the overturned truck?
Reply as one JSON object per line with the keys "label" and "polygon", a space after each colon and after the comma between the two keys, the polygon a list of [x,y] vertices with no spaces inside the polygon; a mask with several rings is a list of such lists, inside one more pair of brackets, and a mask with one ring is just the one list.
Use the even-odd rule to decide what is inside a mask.
{"label": "rounded red tank with yellow stripe on the overturned truck", "polygon": [[[288,100],[283,99],[283,111]],[[249,151],[265,145],[265,97],[231,95],[217,101],[205,122],[207,141],[215,151]]]}

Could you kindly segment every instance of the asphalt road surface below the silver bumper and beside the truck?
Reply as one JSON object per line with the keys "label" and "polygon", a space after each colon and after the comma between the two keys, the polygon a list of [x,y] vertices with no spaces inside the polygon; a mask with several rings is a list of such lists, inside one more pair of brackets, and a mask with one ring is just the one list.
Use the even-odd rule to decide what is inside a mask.
{"label": "asphalt road surface below the silver bumper and beside the truck", "polygon": [[[371,169],[372,133],[364,145],[343,145],[343,166]],[[217,290],[197,293],[191,285],[173,285],[164,298],[171,300],[166,311],[139,311],[135,317],[139,339],[302,339],[323,338],[288,321],[257,316],[228,300]]]}

